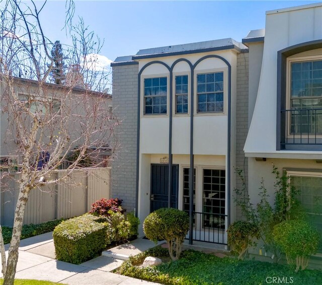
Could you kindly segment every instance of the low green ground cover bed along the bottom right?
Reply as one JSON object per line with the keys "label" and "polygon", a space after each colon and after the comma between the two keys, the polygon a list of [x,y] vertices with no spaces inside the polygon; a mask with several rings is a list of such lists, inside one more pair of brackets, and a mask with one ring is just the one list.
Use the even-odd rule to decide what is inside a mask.
{"label": "low green ground cover bed along the bottom right", "polygon": [[[210,284],[268,284],[273,277],[280,278],[279,283],[294,285],[321,284],[322,271],[304,270],[295,273],[294,267],[255,260],[239,261],[234,258],[219,258],[212,254],[186,250],[178,261],[170,261],[155,267],[140,268],[146,256],[139,256],[124,262],[119,273],[163,284],[210,285]],[[157,255],[157,254],[156,254]],[[160,257],[160,254],[158,254]],[[155,256],[155,255],[154,255]],[[268,279],[267,279],[268,278]],[[284,279],[283,279],[284,278]]]}

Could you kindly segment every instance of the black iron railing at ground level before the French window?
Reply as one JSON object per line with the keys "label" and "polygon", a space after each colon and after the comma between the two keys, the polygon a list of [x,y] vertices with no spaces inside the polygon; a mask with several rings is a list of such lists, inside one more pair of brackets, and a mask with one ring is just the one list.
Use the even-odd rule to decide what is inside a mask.
{"label": "black iron railing at ground level before the French window", "polygon": [[192,240],[226,245],[227,217],[228,215],[194,211]]}

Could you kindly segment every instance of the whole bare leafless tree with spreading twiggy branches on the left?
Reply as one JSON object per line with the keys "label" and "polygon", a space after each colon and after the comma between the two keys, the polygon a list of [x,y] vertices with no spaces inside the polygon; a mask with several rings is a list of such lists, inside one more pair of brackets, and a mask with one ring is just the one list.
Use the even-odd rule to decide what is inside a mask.
{"label": "whole bare leafless tree with spreading twiggy branches on the left", "polygon": [[[76,168],[105,164],[102,150],[109,148],[113,156],[117,145],[118,121],[111,114],[109,95],[100,92],[108,83],[107,70],[96,68],[101,42],[88,32],[82,19],[76,26],[71,24],[73,3],[67,2],[66,28],[72,46],[65,49],[65,63],[71,69],[65,86],[48,83],[54,60],[52,43],[39,20],[45,4],[28,4],[7,0],[1,12],[0,95],[2,131],[5,129],[1,139],[10,157],[1,166],[1,175],[8,175],[11,169],[20,172],[7,260],[0,235],[4,284],[14,282],[30,192],[44,185],[67,183]],[[84,165],[89,158],[90,163]],[[62,165],[64,175],[53,176]]]}

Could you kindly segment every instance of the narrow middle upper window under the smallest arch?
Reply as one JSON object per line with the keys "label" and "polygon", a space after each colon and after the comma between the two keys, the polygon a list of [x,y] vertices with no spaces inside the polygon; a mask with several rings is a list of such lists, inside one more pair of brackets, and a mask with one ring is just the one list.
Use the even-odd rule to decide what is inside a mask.
{"label": "narrow middle upper window under the smallest arch", "polygon": [[188,75],[176,76],[176,114],[188,113]]}

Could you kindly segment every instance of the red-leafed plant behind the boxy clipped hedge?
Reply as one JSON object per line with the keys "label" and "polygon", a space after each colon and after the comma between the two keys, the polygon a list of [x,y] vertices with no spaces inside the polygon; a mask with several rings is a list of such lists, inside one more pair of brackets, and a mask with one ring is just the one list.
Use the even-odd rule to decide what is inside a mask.
{"label": "red-leafed plant behind the boxy clipped hedge", "polygon": [[120,212],[124,213],[125,209],[122,208],[122,199],[118,198],[101,198],[100,200],[97,200],[95,203],[92,204],[92,209],[90,210],[90,213],[97,216],[105,216],[109,217],[111,214],[109,211],[113,212]]}

